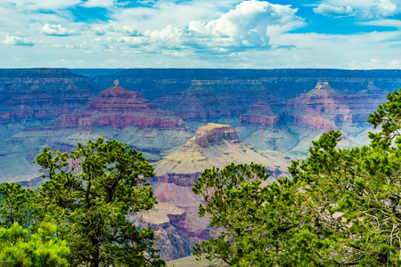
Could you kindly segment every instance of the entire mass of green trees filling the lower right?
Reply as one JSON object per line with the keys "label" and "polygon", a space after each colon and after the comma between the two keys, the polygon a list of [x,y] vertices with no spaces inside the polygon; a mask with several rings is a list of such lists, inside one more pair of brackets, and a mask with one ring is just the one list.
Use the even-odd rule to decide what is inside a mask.
{"label": "entire mass of green trees filling the lower right", "polygon": [[293,161],[292,180],[262,186],[261,166],[205,170],[193,191],[200,215],[224,231],[195,254],[230,266],[399,266],[401,264],[401,94],[389,93],[369,122],[370,146],[337,149],[340,132]]}

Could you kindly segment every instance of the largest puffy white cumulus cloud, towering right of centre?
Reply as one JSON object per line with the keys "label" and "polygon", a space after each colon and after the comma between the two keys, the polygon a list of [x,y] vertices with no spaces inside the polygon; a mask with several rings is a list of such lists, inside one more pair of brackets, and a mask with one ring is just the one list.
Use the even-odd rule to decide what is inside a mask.
{"label": "largest puffy white cumulus cloud, towering right of centre", "polygon": [[[193,20],[187,27],[168,25],[161,30],[138,30],[123,27],[116,30],[124,36],[118,43],[148,51],[184,51],[192,53],[229,54],[241,49],[272,48],[270,36],[304,26],[303,19],[290,5],[244,1],[235,9],[207,22]],[[292,47],[292,46],[286,46]]]}

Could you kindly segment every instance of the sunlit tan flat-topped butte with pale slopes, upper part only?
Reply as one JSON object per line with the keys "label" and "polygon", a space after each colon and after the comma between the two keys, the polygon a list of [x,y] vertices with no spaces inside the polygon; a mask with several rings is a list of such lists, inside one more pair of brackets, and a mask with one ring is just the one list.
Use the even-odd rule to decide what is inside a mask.
{"label": "sunlit tan flat-topped butte with pale slopes, upper part only", "polygon": [[201,173],[213,166],[221,168],[232,162],[262,164],[274,174],[281,174],[289,164],[278,152],[264,153],[242,142],[233,126],[209,123],[201,126],[179,150],[155,164],[158,176],[155,179],[177,184],[187,179],[189,182],[185,184],[191,185],[195,177],[188,174]]}

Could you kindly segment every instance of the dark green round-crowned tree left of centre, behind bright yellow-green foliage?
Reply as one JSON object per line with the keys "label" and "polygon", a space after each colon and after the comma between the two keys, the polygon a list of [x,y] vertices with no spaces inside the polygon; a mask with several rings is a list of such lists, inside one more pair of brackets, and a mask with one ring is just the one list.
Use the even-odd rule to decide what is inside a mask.
{"label": "dark green round-crowned tree left of centre, behind bright yellow-green foliage", "polygon": [[153,167],[141,153],[99,139],[70,153],[45,148],[36,162],[48,178],[38,189],[43,216],[66,240],[70,265],[164,266],[151,229],[127,221],[156,203],[145,181]]}

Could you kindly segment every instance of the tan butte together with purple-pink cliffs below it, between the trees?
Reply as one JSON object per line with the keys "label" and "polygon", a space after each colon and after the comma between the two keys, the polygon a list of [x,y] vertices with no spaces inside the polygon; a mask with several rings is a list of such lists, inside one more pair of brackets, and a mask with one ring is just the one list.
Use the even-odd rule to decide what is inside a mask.
{"label": "tan butte together with purple-pink cliffs below it, between the trees", "polygon": [[[272,182],[274,177],[286,174],[284,166],[290,165],[290,158],[284,158],[274,151],[264,153],[253,149],[238,138],[233,126],[209,123],[201,126],[192,139],[179,150],[155,164],[157,176],[150,182],[156,198],[160,203],[168,203],[170,206],[183,210],[185,214],[174,217],[175,221],[171,217],[168,223],[160,226],[163,230],[157,231],[160,237],[161,255],[166,259],[191,255],[195,242],[213,237],[211,234],[213,230],[208,226],[208,219],[199,218],[197,214],[198,206],[203,199],[192,192],[192,186],[205,168],[213,166],[223,168],[232,162],[262,164],[272,172],[272,178],[268,181]],[[159,230],[160,227],[157,229]],[[174,241],[175,230],[182,235],[180,240],[184,239],[191,245],[190,249],[178,251],[176,248],[171,248],[173,244],[179,244]],[[188,244],[174,245],[174,247],[186,247]]]}

